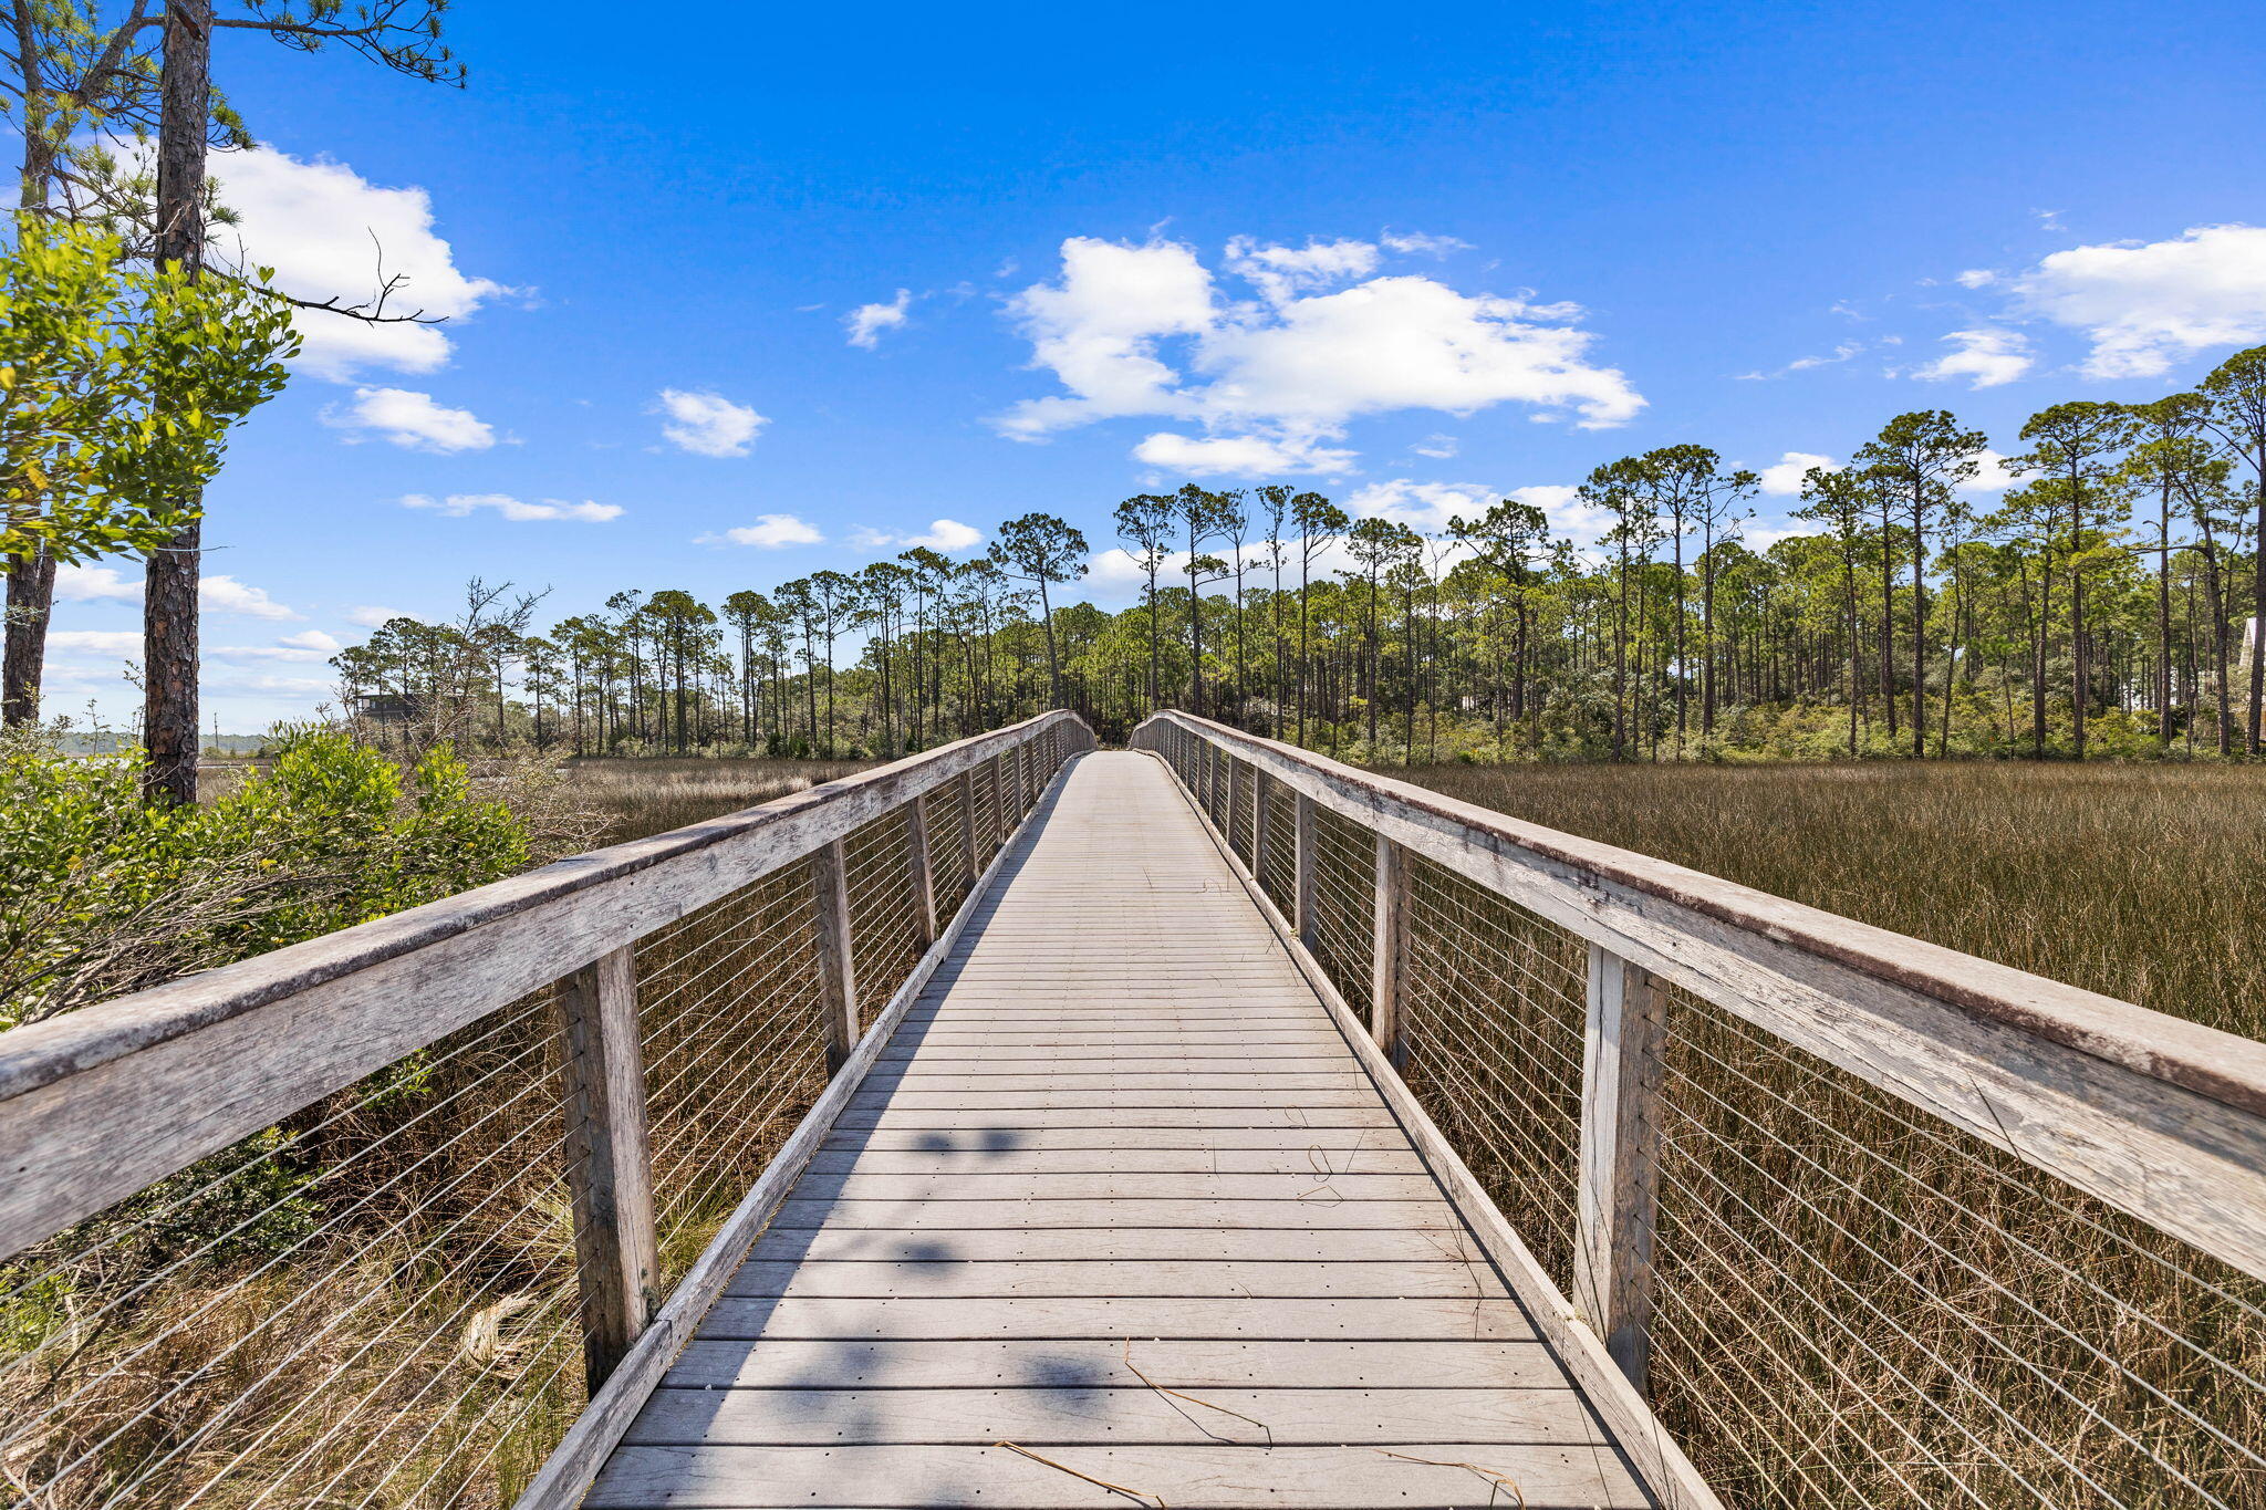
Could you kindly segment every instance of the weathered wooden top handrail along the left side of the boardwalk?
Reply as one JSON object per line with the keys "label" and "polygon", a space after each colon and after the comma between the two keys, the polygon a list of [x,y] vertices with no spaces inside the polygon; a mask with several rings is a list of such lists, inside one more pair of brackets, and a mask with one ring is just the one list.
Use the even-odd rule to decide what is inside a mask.
{"label": "weathered wooden top handrail along the left side of the boardwalk", "polygon": [[1038,740],[1092,747],[1042,713],[5,1032],[0,1259]]}

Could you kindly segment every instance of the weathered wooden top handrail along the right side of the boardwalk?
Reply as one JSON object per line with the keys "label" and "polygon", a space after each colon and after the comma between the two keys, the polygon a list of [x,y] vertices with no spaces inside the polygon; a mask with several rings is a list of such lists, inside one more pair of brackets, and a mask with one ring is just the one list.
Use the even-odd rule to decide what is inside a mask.
{"label": "weathered wooden top handrail along the right side of the boardwalk", "polygon": [[2266,1277],[2266,1044],[1187,713],[1151,715],[1133,745],[1167,731]]}

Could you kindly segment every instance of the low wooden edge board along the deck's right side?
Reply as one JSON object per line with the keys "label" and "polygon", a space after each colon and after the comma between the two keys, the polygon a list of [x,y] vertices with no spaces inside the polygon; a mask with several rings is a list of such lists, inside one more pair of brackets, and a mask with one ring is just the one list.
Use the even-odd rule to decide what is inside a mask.
{"label": "low wooden edge board along the deck's right side", "polygon": [[1706,1478],[1684,1449],[1675,1444],[1668,1429],[1661,1426],[1659,1417],[1629,1383],[1627,1374],[1613,1363],[1604,1352],[1604,1342],[1595,1331],[1582,1320],[1573,1309],[1573,1302],[1557,1288],[1548,1270],[1525,1245],[1525,1238],[1511,1229],[1502,1211],[1486,1195],[1486,1189],[1464,1164],[1462,1155],[1448,1143],[1441,1130],[1432,1123],[1432,1116],[1416,1100],[1416,1093],[1407,1089],[1400,1073],[1378,1048],[1375,1039],[1369,1037],[1366,1026],[1360,1014],[1346,1005],[1346,998],[1330,983],[1328,971],[1321,969],[1321,960],[1298,940],[1298,930],[1292,928],[1289,919],[1273,903],[1251,872],[1244,867],[1242,858],[1235,853],[1235,844],[1226,840],[1224,833],[1212,824],[1212,817],[1196,801],[1196,795],[1187,790],[1181,774],[1172,767],[1158,752],[1147,752],[1158,765],[1165,767],[1176,792],[1187,799],[1190,810],[1194,810],[1196,822],[1203,824],[1203,833],[1212,840],[1212,847],[1228,863],[1228,872],[1242,883],[1244,892],[1258,906],[1260,917],[1273,928],[1276,940],[1289,951],[1292,962],[1298,973],[1305,976],[1314,994],[1321,996],[1323,1007],[1337,1021],[1339,1032],[1353,1046],[1353,1055],[1369,1071],[1378,1091],[1385,1096],[1385,1105],[1400,1118],[1403,1132],[1416,1143],[1416,1152],[1423,1155],[1425,1164],[1432,1166],[1432,1175],[1448,1191],[1450,1204],[1477,1236],[1480,1247],[1502,1272],[1511,1293],[1525,1302],[1527,1313],[1534,1318],[1536,1329],[1543,1340],[1550,1342],[1559,1363],[1573,1374],[1575,1385],[1588,1397],[1591,1410],[1595,1410],[1607,1431],[1620,1442],[1622,1453],[1627,1453],[1638,1481],[1661,1501],[1663,1510],[1724,1510],[1722,1499],[1709,1487]]}

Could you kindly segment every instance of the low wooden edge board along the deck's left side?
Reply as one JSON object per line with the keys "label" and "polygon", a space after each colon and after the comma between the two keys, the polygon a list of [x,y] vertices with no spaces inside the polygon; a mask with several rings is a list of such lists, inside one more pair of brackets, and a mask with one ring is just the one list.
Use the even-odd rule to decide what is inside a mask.
{"label": "low wooden edge board along the deck's left side", "polygon": [[952,915],[952,924],[936,935],[936,942],[920,955],[913,973],[906,976],[897,994],[888,998],[888,1005],[875,1016],[872,1028],[859,1037],[850,1057],[834,1073],[825,1093],[811,1105],[811,1109],[795,1125],[795,1132],[786,1139],[780,1152],[764,1166],[761,1177],[748,1191],[748,1195],[732,1209],[716,1238],[700,1252],[693,1266],[671,1290],[668,1299],[655,1313],[653,1322],[637,1338],[630,1352],[623,1356],[614,1374],[591,1395],[589,1406],[576,1417],[576,1424],[566,1429],[566,1435],[544,1460],[544,1467],[528,1481],[528,1487],[512,1501],[512,1510],[569,1510],[582,1501],[598,1469],[605,1467],[607,1456],[621,1444],[623,1435],[630,1431],[630,1422],[646,1406],[653,1390],[659,1388],[662,1379],[668,1374],[678,1354],[691,1340],[700,1320],[709,1313],[718,1297],[723,1297],[725,1286],[732,1284],[732,1275],[739,1272],[741,1261],[755,1241],[764,1234],[764,1227],[780,1211],[786,1193],[793,1189],[795,1179],[802,1175],[802,1166],[809,1164],[811,1155],[818,1152],[827,1134],[834,1130],[836,1118],[850,1107],[859,1087],[866,1080],[879,1057],[881,1048],[897,1032],[897,1023],[904,1014],[920,1001],[927,989],[929,978],[943,967],[959,944],[961,933],[977,915],[977,906],[990,892],[993,881],[1015,853],[1022,838],[1040,822],[1047,813],[1051,797],[1060,790],[1063,781],[1079,765],[1076,754],[1072,754],[1063,765],[1047,779],[1040,788],[1038,799],[1031,810],[1024,813],[1022,822],[999,851],[983,867],[983,874],[974,878],[968,887],[968,896],[961,901],[959,912]]}

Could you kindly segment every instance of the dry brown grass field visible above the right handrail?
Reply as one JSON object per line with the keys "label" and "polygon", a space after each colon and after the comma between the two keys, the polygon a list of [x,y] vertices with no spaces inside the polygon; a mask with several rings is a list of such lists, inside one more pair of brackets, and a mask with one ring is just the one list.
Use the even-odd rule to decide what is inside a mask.
{"label": "dry brown grass field visible above the right handrail", "polygon": [[1389,774],[2266,1037],[2266,765],[1432,765]]}

